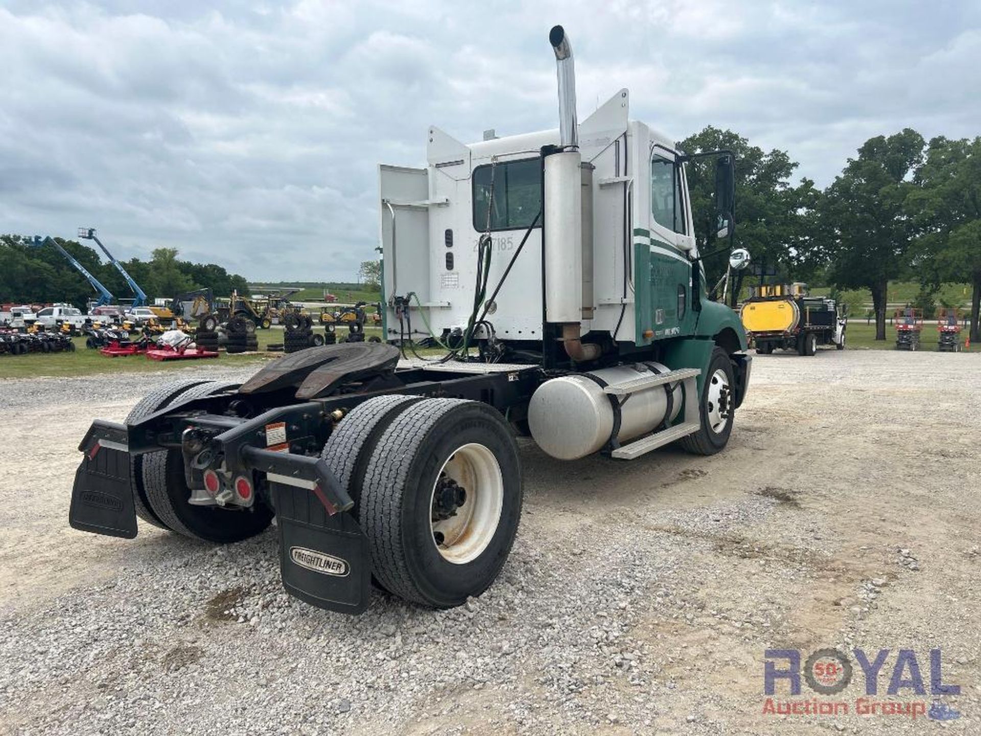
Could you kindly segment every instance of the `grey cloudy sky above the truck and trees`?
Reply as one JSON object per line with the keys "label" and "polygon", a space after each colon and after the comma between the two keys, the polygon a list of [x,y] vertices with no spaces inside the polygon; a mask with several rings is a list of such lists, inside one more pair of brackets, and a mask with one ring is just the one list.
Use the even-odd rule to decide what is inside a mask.
{"label": "grey cloudy sky above the truck and trees", "polygon": [[627,86],[632,117],[731,128],[822,186],[874,134],[981,134],[977,0],[0,0],[0,232],[353,279],[376,165],[424,165],[428,125],[556,127],[555,23],[581,119]]}

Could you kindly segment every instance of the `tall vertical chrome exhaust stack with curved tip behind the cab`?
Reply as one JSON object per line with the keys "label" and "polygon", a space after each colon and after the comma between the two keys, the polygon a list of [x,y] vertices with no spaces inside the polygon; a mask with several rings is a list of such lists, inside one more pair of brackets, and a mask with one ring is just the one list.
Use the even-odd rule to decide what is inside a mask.
{"label": "tall vertical chrome exhaust stack with curved tip behind the cab", "polygon": [[576,70],[572,44],[562,26],[549,31],[548,42],[555,53],[560,145],[547,153],[543,162],[545,319],[561,325],[566,354],[583,362],[598,358],[600,347],[580,340],[584,187],[576,121]]}

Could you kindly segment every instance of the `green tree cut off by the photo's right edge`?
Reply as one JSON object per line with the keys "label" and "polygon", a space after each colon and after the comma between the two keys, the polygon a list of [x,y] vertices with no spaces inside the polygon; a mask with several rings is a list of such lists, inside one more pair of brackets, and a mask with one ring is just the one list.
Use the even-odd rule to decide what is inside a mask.
{"label": "green tree cut off by the photo's right edge", "polygon": [[930,140],[906,210],[916,227],[912,261],[921,281],[971,284],[970,339],[981,311],[981,137]]}

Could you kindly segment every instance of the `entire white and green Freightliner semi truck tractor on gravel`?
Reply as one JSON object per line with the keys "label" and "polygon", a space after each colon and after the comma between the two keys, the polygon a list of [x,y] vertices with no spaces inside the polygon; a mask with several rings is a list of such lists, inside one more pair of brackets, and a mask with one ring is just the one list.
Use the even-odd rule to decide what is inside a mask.
{"label": "entire white and green Freightliner semi truck tractor on gravel", "polygon": [[[518,533],[516,437],[604,453],[611,476],[669,443],[726,446],[750,356],[706,295],[691,156],[630,119],[626,89],[579,123],[569,38],[548,40],[557,130],[464,144],[432,127],[426,167],[380,167],[385,342],[167,384],[96,420],[73,527],[132,538],[138,517],[229,543],[276,517],[294,596],[357,613],[374,585],[445,607],[493,583]],[[697,155],[731,232],[733,156]]]}

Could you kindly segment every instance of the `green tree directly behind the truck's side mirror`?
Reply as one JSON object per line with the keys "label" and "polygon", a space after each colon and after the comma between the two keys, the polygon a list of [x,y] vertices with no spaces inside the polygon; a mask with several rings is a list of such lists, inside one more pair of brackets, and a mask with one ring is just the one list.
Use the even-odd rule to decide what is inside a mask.
{"label": "green tree directly behind the truck's side mirror", "polygon": [[[820,192],[807,179],[791,184],[798,164],[785,151],[767,153],[736,132],[711,126],[680,141],[678,147],[689,154],[715,150],[735,154],[735,241],[749,249],[753,263],[785,271],[811,263],[810,219]],[[698,250],[718,249],[724,243],[715,242],[715,159],[694,159],[688,164],[687,176]],[[714,284],[726,266],[725,254],[706,258],[709,281]],[[733,293],[737,291],[738,285]]]}

